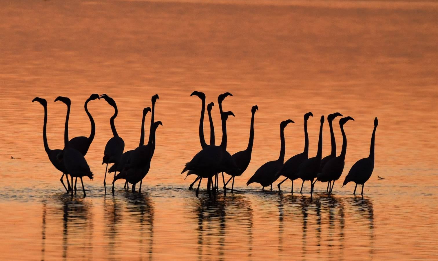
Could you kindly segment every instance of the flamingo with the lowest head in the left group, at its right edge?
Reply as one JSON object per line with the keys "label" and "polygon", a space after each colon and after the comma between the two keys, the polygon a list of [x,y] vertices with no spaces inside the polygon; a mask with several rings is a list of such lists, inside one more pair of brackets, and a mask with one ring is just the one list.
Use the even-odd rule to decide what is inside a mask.
{"label": "flamingo with the lowest head in the left group, at its right edge", "polygon": [[[114,182],[116,182],[117,179],[126,179],[127,182],[132,184],[132,192],[135,192],[135,184],[141,182],[141,180],[145,178],[151,167],[152,154],[156,144],[155,131],[159,125],[162,125],[162,122],[154,122],[154,124],[152,125],[152,130],[149,133],[148,145],[143,145],[134,150],[124,170],[122,172],[119,172],[119,174],[114,177],[113,184]],[[145,155],[143,156],[143,159],[141,159],[141,154],[139,154],[140,152]],[[139,160],[141,160],[142,162],[139,162]],[[138,192],[141,192],[141,186],[138,189]]]}

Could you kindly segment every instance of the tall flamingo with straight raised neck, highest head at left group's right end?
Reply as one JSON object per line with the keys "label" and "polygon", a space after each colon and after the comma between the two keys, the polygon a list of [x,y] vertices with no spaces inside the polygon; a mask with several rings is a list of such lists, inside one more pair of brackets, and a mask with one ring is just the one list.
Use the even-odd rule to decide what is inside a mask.
{"label": "tall flamingo with straight raised neck, highest head at left group's right end", "polygon": [[[149,141],[147,145],[141,145],[138,146],[131,154],[131,157],[128,160],[128,163],[125,165],[125,169],[129,168],[136,168],[136,169],[144,169],[145,173],[143,177],[148,173],[149,167],[151,164],[152,156],[155,151],[155,129],[158,128],[158,123],[152,122],[155,117],[155,102],[158,100],[158,94],[155,94],[152,96],[152,115],[151,115],[151,127],[149,131]],[[161,122],[159,122],[159,125],[162,125]],[[156,127],[154,127],[156,125]],[[153,133],[152,133],[153,132]],[[146,170],[147,167],[147,170]],[[129,182],[129,181],[128,181]],[[140,188],[138,189],[138,192],[141,192],[141,183],[142,179],[140,180]],[[114,184],[114,183],[113,183]],[[134,188],[132,189],[135,191],[135,184]]]}

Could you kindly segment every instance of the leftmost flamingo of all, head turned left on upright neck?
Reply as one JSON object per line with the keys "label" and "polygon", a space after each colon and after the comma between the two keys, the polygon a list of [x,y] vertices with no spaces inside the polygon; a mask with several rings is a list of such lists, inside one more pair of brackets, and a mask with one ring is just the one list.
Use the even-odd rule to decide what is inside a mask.
{"label": "leftmost flamingo of all, head turned left on upright neck", "polygon": [[[70,183],[67,189],[63,181],[64,175],[66,175],[65,173],[67,172],[67,170],[65,169],[64,162],[59,161],[57,159],[58,154],[62,153],[62,150],[50,150],[49,144],[47,143],[47,101],[46,99],[42,99],[39,97],[36,97],[35,99],[32,100],[32,102],[34,101],[39,102],[42,105],[42,107],[44,107],[44,125],[42,127],[42,140],[44,142],[44,150],[46,150],[47,156],[49,157],[49,161],[53,164],[53,167],[55,167],[57,170],[62,172],[62,176],[60,180],[62,186],[64,186],[65,190],[68,192],[71,189]],[[68,176],[67,176],[67,182],[68,182]]]}

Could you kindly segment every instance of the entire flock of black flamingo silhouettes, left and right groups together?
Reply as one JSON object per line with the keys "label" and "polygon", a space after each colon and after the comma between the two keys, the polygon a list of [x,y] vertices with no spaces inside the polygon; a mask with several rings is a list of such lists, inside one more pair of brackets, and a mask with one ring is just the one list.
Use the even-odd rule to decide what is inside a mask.
{"label": "entire flock of black flamingo silhouettes, left and right groups together", "polygon": [[[248,146],[245,150],[239,151],[231,155],[226,149],[227,134],[226,134],[226,121],[229,116],[234,116],[231,111],[223,111],[222,102],[228,96],[233,96],[231,93],[223,93],[218,97],[218,106],[221,116],[222,123],[222,141],[219,146],[215,145],[215,132],[212,120],[212,108],[214,103],[207,105],[208,119],[210,123],[210,144],[205,142],[204,138],[204,114],[205,114],[205,94],[194,91],[191,96],[198,96],[202,101],[201,107],[201,119],[199,122],[199,139],[201,143],[201,151],[199,151],[190,162],[187,162],[183,171],[181,173],[187,172],[188,175],[197,175],[194,182],[191,183],[189,189],[193,189],[195,182],[198,182],[198,188],[196,189],[196,195],[199,193],[199,187],[201,185],[202,179],[207,179],[207,191],[208,193],[213,190],[214,193],[219,190],[219,173],[222,173],[223,179],[223,189],[226,193],[227,190],[234,191],[234,179],[236,176],[241,176],[247,169],[251,161],[251,152],[254,143],[254,115],[258,110],[257,105],[251,108],[251,127]],[[106,164],[105,177],[103,179],[103,186],[105,188],[106,194],[106,174],[114,172],[113,182],[112,182],[112,192],[114,193],[114,183],[118,179],[125,179],[125,189],[129,189],[129,183],[132,184],[131,190],[136,191],[136,184],[140,182],[140,187],[138,192],[141,192],[142,180],[149,172],[151,166],[152,156],[155,151],[155,131],[162,122],[154,122],[155,115],[155,102],[159,99],[158,94],[152,96],[152,110],[150,107],[143,109],[143,117],[141,120],[141,134],[140,142],[137,148],[134,150],[128,150],[124,152],[125,143],[124,140],[117,134],[116,127],[114,125],[114,119],[117,117],[117,105],[113,98],[106,94],[99,96],[98,94],[92,94],[85,101],[85,112],[91,122],[91,133],[89,137],[78,136],[73,139],[68,139],[68,119],[70,116],[71,100],[67,97],[57,97],[56,101],[61,101],[67,105],[67,116],[65,120],[64,129],[64,149],[63,150],[51,150],[47,143],[47,101],[45,99],[36,97],[32,102],[38,101],[44,107],[44,126],[43,126],[43,141],[44,149],[49,157],[50,162],[55,168],[62,172],[61,183],[66,189],[67,193],[71,191],[73,195],[73,190],[76,193],[76,182],[77,179],[81,179],[82,190],[84,192],[84,197],[86,196],[83,177],[87,176],[89,179],[93,179],[93,173],[85,160],[85,155],[95,136],[95,123],[88,111],[87,105],[91,100],[103,98],[106,102],[114,108],[114,114],[110,118],[109,122],[111,125],[111,130],[113,132],[113,137],[108,140],[105,146],[104,156],[102,164]],[[148,144],[144,144],[145,141],[145,117],[148,112],[152,112],[150,132]],[[284,128],[289,123],[294,123],[292,120],[288,119],[280,123],[280,155],[275,161],[268,161],[263,164],[254,175],[248,180],[247,185],[251,183],[259,183],[264,189],[266,186],[271,186],[280,176],[284,176],[285,179],[281,181],[277,186],[281,191],[280,185],[286,180],[290,179],[292,181],[291,193],[293,193],[293,181],[295,179],[302,179],[300,193],[303,190],[304,181],[311,181],[310,193],[313,193],[314,183],[317,181],[328,182],[327,191],[329,194],[332,193],[335,181],[340,178],[343,172],[345,164],[345,155],[347,149],[347,138],[344,131],[344,125],[347,121],[353,120],[351,117],[341,118],[339,120],[339,125],[343,137],[343,144],[341,149],[341,154],[337,156],[336,154],[336,140],[333,132],[332,122],[337,116],[343,116],[339,112],[334,114],[329,114],[329,127],[330,127],[330,137],[332,143],[331,153],[321,158],[322,156],[322,126],[324,124],[324,116],[321,116],[321,125],[319,129],[319,139],[318,139],[318,151],[315,157],[308,157],[309,150],[309,136],[307,134],[307,120],[309,117],[313,117],[311,112],[304,114],[304,151],[291,157],[289,160],[284,162],[285,156],[285,138],[284,138]],[[353,194],[356,193],[357,185],[362,185],[362,192],[364,192],[364,183],[371,177],[374,169],[374,137],[377,129],[378,120],[377,117],[374,119],[374,130],[371,136],[371,148],[368,157],[360,159],[357,161],[353,167],[350,169],[348,175],[346,175],[343,182],[343,186],[348,182],[352,181],[356,183]],[[284,162],[284,163],[283,163]],[[113,163],[113,165],[108,169],[108,164]],[[116,175],[116,172],[119,172]],[[224,173],[230,175],[230,179],[225,182]],[[63,178],[64,175],[67,176],[67,186],[65,186]],[[71,185],[68,180],[68,175],[71,178]],[[73,178],[75,179],[73,188]],[[214,182],[213,182],[214,178]],[[231,189],[227,188],[228,183],[233,180]],[[213,188],[213,189],[211,189]]]}

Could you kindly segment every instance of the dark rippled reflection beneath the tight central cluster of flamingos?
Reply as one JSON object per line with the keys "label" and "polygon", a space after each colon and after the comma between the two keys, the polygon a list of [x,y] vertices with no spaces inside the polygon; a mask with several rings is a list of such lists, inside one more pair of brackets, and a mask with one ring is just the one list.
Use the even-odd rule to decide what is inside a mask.
{"label": "dark rippled reflection beneath the tight central cluster of flamingos", "polygon": [[[225,249],[239,241],[242,233],[234,230],[244,229],[247,234],[248,257],[252,256],[253,217],[251,204],[242,195],[197,197],[196,213],[198,218],[198,260],[205,256],[216,256],[225,259]],[[230,231],[227,231],[227,228]],[[231,231],[233,230],[233,231]],[[227,233],[233,236],[226,236]],[[212,240],[217,239],[217,242]],[[215,253],[217,246],[217,253]]]}

